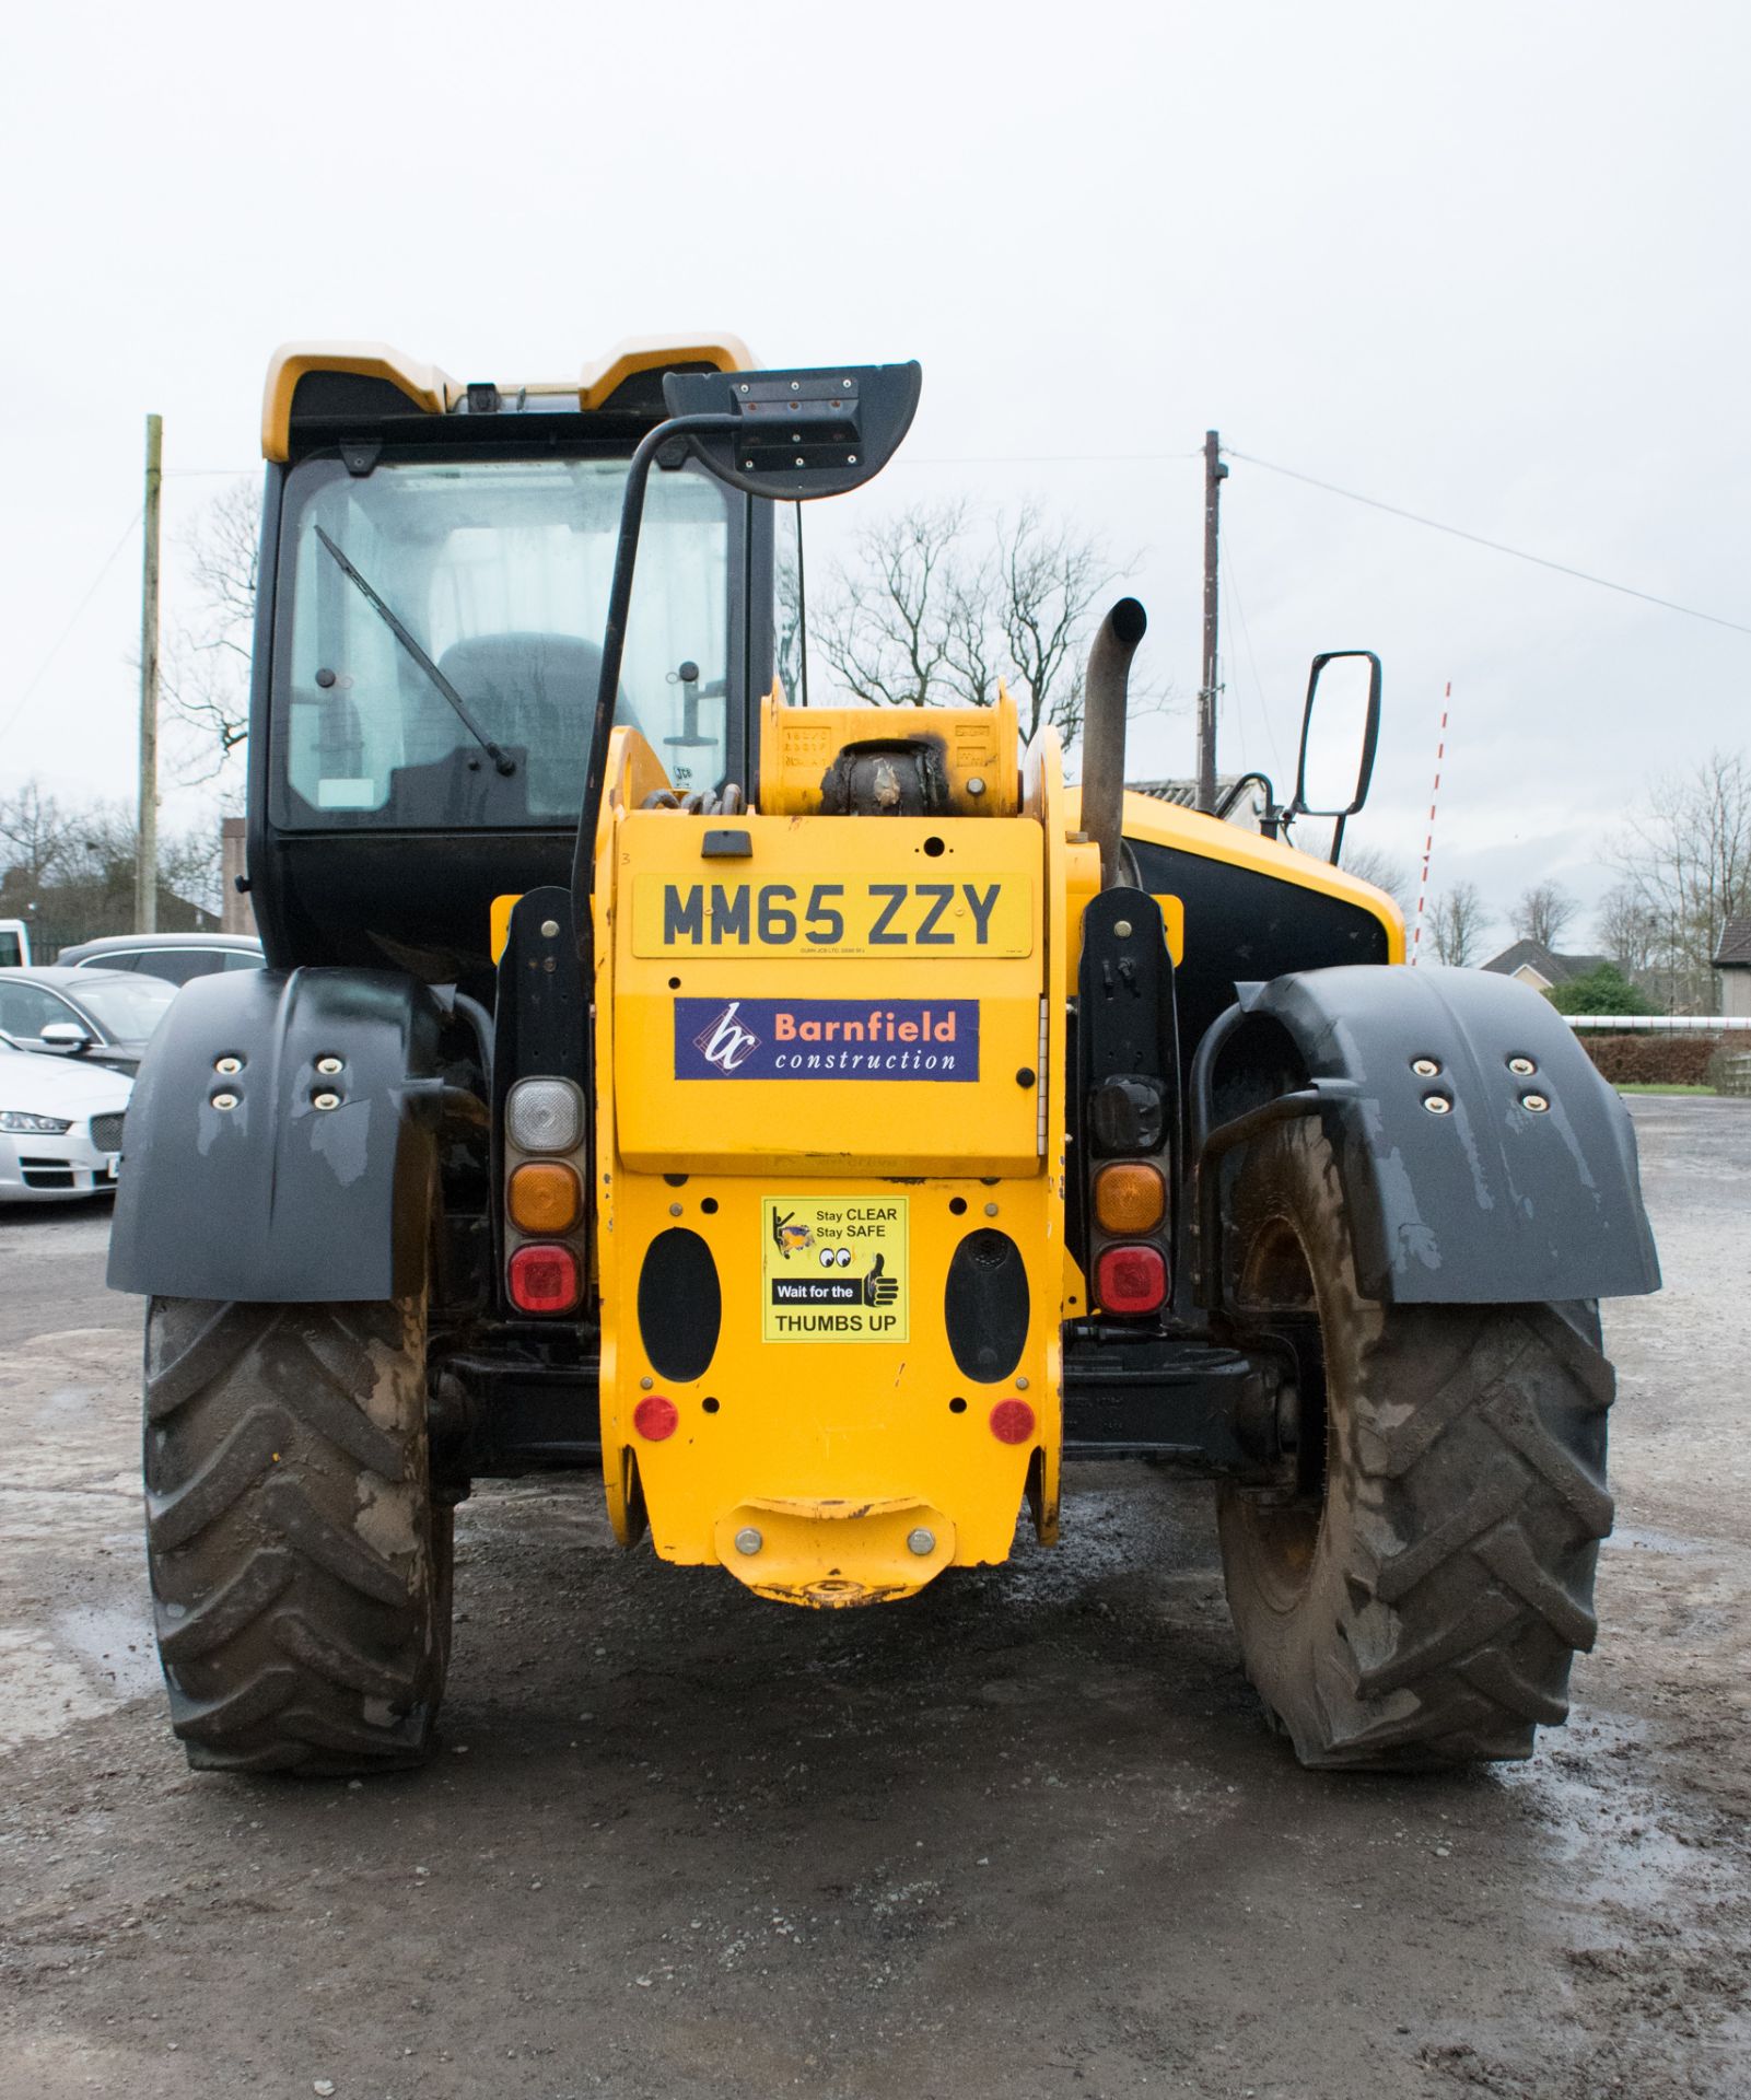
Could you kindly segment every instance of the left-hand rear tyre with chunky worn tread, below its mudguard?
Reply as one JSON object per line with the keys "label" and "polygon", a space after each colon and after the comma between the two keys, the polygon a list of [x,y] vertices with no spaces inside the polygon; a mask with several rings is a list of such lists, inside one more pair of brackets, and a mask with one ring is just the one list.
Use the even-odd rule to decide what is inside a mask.
{"label": "left-hand rear tyre with chunky worn tread, below its mudguard", "polygon": [[157,1651],[189,1764],[420,1764],[451,1567],[426,1460],[424,1304],[153,1298],[145,1483]]}

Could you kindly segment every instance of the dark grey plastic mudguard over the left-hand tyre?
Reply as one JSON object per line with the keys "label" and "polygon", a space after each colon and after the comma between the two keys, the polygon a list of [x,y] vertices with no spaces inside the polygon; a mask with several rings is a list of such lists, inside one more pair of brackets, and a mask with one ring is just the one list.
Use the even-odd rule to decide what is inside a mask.
{"label": "dark grey plastic mudguard over the left-hand tyre", "polygon": [[[189,983],[128,1102],[111,1289],[275,1302],[420,1289],[439,1021],[433,995],[395,970]],[[220,1073],[227,1058],[241,1069]],[[317,1071],[321,1058],[340,1071]],[[340,1105],[319,1109],[330,1094]],[[235,1107],[214,1107],[220,1096]]]}

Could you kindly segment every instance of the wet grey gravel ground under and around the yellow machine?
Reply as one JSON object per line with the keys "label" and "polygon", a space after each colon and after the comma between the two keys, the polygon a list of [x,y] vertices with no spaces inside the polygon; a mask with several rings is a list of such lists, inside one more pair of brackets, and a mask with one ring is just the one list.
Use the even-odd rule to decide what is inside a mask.
{"label": "wet grey gravel ground under and around the yellow machine", "polygon": [[101,1212],[0,1220],[0,2092],[134,2100],[1751,2094],[1751,1105],[1633,1105],[1667,1270],[1608,1308],[1619,1529],[1524,1766],[1300,1772],[1209,1489],[894,1611],[621,1558],[588,1483],[458,1527],[445,1745],[197,1779],[139,1548]]}

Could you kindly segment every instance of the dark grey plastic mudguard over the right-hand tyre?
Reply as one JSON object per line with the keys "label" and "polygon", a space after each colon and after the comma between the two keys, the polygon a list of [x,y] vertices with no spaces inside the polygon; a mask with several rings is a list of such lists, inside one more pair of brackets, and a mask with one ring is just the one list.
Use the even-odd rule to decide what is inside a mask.
{"label": "dark grey plastic mudguard over the right-hand tyre", "polygon": [[[1629,1113],[1528,985],[1360,966],[1279,976],[1241,1004],[1293,1035],[1310,1077],[1358,1084],[1325,1115],[1371,1298],[1526,1304],[1661,1287]],[[1419,1077],[1417,1058],[1440,1075]],[[1451,1113],[1423,1107],[1432,1092]],[[1526,1094],[1549,1107],[1526,1109]]]}

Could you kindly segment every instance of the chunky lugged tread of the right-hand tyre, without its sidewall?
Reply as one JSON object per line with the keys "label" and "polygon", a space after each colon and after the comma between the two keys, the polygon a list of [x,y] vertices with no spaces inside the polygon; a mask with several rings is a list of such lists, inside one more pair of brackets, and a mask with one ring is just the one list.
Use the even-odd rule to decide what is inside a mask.
{"label": "chunky lugged tread of the right-hand tyre, without its sidewall", "polygon": [[[1331,1144],[1310,1126],[1285,1128],[1272,1155],[1304,1245],[1337,1250],[1321,1302],[1323,1317],[1329,1300],[1342,1308],[1354,1338],[1354,1512],[1333,1533],[1342,1564],[1323,1592],[1342,1600],[1337,1625],[1310,1625],[1316,1665],[1293,1682],[1279,1651],[1249,1653],[1247,1665],[1304,1764],[1524,1758],[1537,1726],[1566,1718],[1573,1655],[1598,1625],[1615,1390],[1598,1323],[1587,1306],[1360,1298]],[[1245,1648],[1262,1615],[1249,1619],[1232,1588],[1241,1560],[1228,1567]]]}

